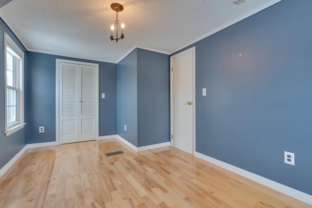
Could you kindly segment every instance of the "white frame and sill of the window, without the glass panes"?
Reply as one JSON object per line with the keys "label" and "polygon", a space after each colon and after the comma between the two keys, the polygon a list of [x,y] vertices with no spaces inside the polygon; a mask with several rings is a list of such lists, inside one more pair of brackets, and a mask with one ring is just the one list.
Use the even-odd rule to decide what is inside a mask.
{"label": "white frame and sill of the window, without the glass panes", "polygon": [[[13,88],[10,86],[8,87],[6,84],[7,47],[9,47],[10,50],[15,53],[13,56],[19,57],[19,60],[15,61],[16,63],[18,63],[19,67],[18,69],[14,69],[14,88],[17,88],[17,121],[10,124],[7,123],[7,89]],[[4,33],[4,108],[4,132],[5,135],[8,136],[24,128],[24,125],[26,123],[24,123],[24,53],[6,33]]]}

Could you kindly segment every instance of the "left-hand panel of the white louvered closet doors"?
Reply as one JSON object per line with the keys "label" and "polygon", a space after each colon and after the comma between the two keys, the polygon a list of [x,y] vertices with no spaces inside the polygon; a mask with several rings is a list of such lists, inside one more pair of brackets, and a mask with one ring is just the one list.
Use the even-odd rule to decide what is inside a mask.
{"label": "left-hand panel of the white louvered closet doors", "polygon": [[59,63],[60,69],[60,144],[78,142],[79,128],[79,68]]}

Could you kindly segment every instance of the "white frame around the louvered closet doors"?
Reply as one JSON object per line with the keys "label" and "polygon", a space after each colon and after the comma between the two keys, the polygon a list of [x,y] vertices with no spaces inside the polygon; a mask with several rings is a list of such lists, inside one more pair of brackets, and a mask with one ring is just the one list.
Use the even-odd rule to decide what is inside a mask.
{"label": "white frame around the louvered closet doors", "polygon": [[96,115],[96,140],[98,140],[98,64],[97,63],[90,63],[90,62],[82,62],[82,61],[73,61],[73,60],[66,60],[66,59],[59,59],[56,58],[56,87],[55,87],[55,122],[56,122],[56,144],[59,145],[59,62],[64,62],[64,63],[72,63],[72,64],[79,64],[79,65],[87,65],[87,66],[94,66],[96,67],[95,69],[95,75],[96,75],[96,80],[95,80],[95,103],[96,103],[96,109],[95,109],[95,115]]}

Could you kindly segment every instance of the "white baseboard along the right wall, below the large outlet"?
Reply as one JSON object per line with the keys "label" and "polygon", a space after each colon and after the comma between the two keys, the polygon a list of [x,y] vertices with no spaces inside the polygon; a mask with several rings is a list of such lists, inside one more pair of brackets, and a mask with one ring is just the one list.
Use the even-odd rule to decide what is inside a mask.
{"label": "white baseboard along the right wall, below the large outlet", "polygon": [[296,189],[292,189],[288,186],[285,186],[283,184],[280,184],[280,183],[277,183],[275,181],[272,181],[270,179],[267,179],[267,178],[264,178],[260,175],[257,175],[257,174],[254,174],[252,172],[249,172],[247,170],[243,170],[243,169],[240,169],[240,168],[237,168],[233,165],[230,165],[228,163],[225,163],[225,162],[222,162],[220,160],[217,160],[213,157],[209,157],[205,154],[202,154],[202,153],[199,153],[199,152],[195,152],[194,156],[200,158],[200,159],[203,159],[203,160],[206,160],[207,162],[210,162],[212,164],[215,164],[221,168],[224,168],[226,170],[230,170],[238,175],[241,175],[245,178],[248,178],[250,180],[253,180],[259,184],[262,184],[266,187],[269,187],[271,189],[274,189],[274,190],[277,190],[281,193],[284,193],[286,195],[289,195],[295,199],[298,199],[304,203],[307,203],[309,205],[312,205],[312,195],[309,195],[307,193],[304,193],[302,191],[299,191],[299,190],[296,190]]}

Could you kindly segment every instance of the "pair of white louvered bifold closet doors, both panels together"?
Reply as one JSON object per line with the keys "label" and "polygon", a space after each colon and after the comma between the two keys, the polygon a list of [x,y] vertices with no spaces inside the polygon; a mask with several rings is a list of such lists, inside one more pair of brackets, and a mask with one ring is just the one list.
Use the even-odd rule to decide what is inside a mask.
{"label": "pair of white louvered bifold closet doors, both panels together", "polygon": [[97,138],[96,67],[59,62],[59,143]]}

